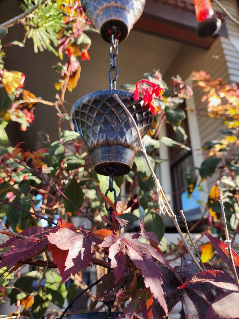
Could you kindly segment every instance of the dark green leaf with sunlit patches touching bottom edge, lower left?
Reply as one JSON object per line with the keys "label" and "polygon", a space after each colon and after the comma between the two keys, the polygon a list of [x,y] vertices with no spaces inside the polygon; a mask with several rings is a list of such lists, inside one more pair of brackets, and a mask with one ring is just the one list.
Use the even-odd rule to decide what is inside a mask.
{"label": "dark green leaf with sunlit patches touching bottom edge, lower left", "polygon": [[35,319],[40,319],[45,314],[50,301],[51,294],[47,294],[46,288],[40,286],[34,297],[34,303],[32,305],[32,313]]}

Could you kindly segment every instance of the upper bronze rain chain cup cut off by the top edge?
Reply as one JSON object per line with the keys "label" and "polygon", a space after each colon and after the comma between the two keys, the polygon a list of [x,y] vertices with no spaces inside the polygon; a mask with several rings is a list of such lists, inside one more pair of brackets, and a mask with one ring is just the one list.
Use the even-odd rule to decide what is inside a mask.
{"label": "upper bronze rain chain cup cut off by the top edge", "polygon": [[120,31],[119,42],[124,41],[143,12],[145,0],[81,0],[82,8],[101,37],[110,42],[108,31]]}

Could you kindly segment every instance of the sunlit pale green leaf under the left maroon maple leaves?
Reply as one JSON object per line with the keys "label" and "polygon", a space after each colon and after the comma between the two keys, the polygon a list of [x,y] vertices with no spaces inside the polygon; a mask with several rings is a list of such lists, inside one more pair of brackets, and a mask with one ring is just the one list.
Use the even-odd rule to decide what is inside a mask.
{"label": "sunlit pale green leaf under the left maroon maple leaves", "polygon": [[56,272],[47,270],[45,273],[46,283],[45,287],[48,294],[52,296],[52,302],[59,308],[62,308],[65,298],[67,296],[67,290],[65,284],[61,285],[62,277]]}

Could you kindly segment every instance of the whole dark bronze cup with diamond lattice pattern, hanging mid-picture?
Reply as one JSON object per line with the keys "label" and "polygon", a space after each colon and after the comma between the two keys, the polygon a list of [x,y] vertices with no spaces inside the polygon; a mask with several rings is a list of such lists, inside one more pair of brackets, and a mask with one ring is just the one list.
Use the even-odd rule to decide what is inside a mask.
{"label": "whole dark bronze cup with diamond lattice pattern, hanging mid-picture", "polygon": [[96,173],[109,176],[109,167],[116,167],[114,176],[130,172],[139,141],[128,115],[115,100],[117,94],[133,115],[143,137],[152,125],[153,115],[141,100],[120,90],[96,91],[83,96],[73,105],[71,116],[75,130],[81,134]]}

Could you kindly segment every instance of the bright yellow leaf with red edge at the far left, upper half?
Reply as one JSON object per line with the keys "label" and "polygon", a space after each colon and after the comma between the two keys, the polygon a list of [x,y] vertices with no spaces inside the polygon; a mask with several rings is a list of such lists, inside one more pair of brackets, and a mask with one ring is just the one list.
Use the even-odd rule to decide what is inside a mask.
{"label": "bright yellow leaf with red edge at the far left, upper half", "polygon": [[24,79],[24,74],[18,71],[5,71],[2,75],[3,85],[9,94],[22,87]]}

